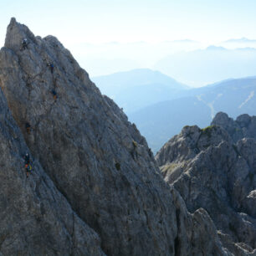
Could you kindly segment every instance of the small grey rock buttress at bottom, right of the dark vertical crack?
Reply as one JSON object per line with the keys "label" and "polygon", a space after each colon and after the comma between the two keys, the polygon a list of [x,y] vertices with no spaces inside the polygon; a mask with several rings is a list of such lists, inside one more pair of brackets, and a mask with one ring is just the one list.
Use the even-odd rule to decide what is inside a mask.
{"label": "small grey rock buttress at bottom, right of the dark vertical crack", "polygon": [[172,197],[176,206],[177,237],[174,255],[233,255],[218,238],[217,229],[212,219],[203,208],[187,212],[181,195],[171,186]]}

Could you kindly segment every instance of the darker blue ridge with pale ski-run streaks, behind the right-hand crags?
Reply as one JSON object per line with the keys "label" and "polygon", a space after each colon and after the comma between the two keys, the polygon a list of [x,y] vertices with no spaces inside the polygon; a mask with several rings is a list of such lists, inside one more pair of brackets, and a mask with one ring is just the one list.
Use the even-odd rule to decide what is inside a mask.
{"label": "darker blue ridge with pale ski-run streaks, behind the right-hand crags", "polygon": [[150,105],[129,115],[152,151],[176,135],[184,125],[206,126],[218,111],[233,118],[256,115],[256,78],[228,79],[208,86],[182,90],[177,99]]}

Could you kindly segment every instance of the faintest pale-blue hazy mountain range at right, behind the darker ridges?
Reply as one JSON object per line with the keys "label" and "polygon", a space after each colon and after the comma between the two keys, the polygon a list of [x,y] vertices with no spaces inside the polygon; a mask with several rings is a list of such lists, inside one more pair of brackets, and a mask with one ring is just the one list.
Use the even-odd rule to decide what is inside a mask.
{"label": "faintest pale-blue hazy mountain range at right, behind the darker ridges", "polygon": [[[244,41],[245,38],[237,41],[241,40]],[[237,41],[229,40],[225,44],[233,45],[238,43]],[[241,47],[241,44],[238,46]],[[192,86],[202,86],[229,78],[247,77],[255,74],[256,49],[253,47],[254,45],[251,44],[239,49],[209,46],[207,49],[182,51],[159,60],[154,65],[154,69]]]}

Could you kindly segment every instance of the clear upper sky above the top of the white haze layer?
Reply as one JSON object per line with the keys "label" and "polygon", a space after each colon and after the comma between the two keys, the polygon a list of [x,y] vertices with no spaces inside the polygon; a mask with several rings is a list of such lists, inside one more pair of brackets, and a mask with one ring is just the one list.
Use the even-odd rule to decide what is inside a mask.
{"label": "clear upper sky above the top of the white haze layer", "polygon": [[26,23],[33,33],[54,34],[64,44],[256,38],[254,0],[0,0],[0,3],[1,42],[11,17]]}

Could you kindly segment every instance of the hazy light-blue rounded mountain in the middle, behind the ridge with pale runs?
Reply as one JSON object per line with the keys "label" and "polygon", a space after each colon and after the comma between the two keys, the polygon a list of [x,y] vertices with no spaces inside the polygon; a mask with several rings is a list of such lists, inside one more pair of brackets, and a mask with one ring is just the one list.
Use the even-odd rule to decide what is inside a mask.
{"label": "hazy light-blue rounded mountain in the middle, behind the ridge with pale runs", "polygon": [[102,94],[130,114],[147,105],[172,100],[189,87],[175,79],[151,69],[133,69],[92,78]]}

